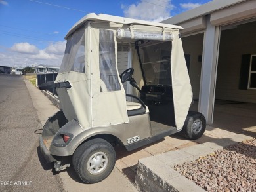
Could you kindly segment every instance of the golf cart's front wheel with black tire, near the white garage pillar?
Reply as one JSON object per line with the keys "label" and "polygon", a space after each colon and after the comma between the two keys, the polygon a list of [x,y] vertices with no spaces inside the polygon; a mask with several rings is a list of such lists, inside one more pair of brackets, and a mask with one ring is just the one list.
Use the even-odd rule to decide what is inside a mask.
{"label": "golf cart's front wheel with black tire, near the white garage pillar", "polygon": [[203,135],[205,128],[206,120],[202,113],[189,111],[181,132],[185,138],[196,140]]}

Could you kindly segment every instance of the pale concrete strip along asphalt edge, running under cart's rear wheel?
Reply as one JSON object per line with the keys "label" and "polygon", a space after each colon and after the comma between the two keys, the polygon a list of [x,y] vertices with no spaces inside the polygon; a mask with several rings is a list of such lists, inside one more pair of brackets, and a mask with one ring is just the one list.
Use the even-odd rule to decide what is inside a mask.
{"label": "pale concrete strip along asphalt edge, running under cart's rear wheel", "polygon": [[[56,113],[58,109],[49,101],[47,96],[42,94],[38,88],[35,88],[35,86],[33,86],[28,80],[25,80],[25,82],[28,92],[32,98],[33,106],[37,111],[39,121],[42,123],[42,125],[44,125],[48,117]],[[106,180],[91,185],[81,183],[73,168],[68,168],[66,171],[60,172],[59,176],[66,191],[137,191],[133,183],[129,182],[126,176],[123,175],[117,168],[114,168],[113,172],[110,174],[110,176],[108,176],[108,178],[106,178]]]}

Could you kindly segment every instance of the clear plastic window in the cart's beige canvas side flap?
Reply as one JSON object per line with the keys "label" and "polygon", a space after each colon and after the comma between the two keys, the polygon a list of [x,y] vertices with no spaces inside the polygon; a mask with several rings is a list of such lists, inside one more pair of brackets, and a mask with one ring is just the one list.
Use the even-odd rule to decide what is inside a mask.
{"label": "clear plastic window in the cart's beige canvas side flap", "polygon": [[116,50],[114,31],[100,29],[100,90],[117,91],[121,90],[116,69]]}

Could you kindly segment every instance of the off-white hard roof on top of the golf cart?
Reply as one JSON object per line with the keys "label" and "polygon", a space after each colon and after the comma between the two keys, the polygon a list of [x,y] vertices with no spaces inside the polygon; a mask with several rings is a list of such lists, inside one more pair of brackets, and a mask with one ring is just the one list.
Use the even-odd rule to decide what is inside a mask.
{"label": "off-white hard roof on top of the golf cart", "polygon": [[145,26],[157,26],[157,27],[163,27],[163,28],[173,28],[173,29],[183,29],[181,26],[175,26],[171,24],[163,24],[158,22],[148,22],[144,20],[135,20],[131,18],[124,18],[119,16],[112,16],[108,14],[95,14],[90,13],[81,18],[71,29],[68,31],[68,34],[66,35],[65,39],[67,39],[76,29],[78,29],[80,26],[85,24],[88,20],[91,21],[105,21],[105,22],[114,22],[117,24],[141,24]]}

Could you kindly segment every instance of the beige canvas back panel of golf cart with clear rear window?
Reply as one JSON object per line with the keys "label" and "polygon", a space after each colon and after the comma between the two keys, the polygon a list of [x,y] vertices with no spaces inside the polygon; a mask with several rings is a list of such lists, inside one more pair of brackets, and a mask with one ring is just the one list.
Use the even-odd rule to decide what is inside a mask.
{"label": "beige canvas back panel of golf cart with clear rear window", "polygon": [[[71,88],[58,88],[60,107],[68,121],[77,119],[83,128],[91,127],[91,92],[86,54],[88,29],[81,28],[68,38],[60,72],[55,83],[68,81]],[[85,66],[86,69],[85,69]],[[90,74],[90,73],[89,73]]]}

